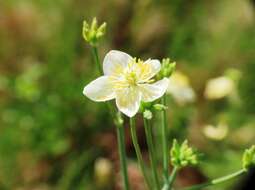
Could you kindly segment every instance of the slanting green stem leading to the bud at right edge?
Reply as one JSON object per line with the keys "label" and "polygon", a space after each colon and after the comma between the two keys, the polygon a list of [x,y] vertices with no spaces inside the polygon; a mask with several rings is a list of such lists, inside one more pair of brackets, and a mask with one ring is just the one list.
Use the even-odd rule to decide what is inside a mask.
{"label": "slanting green stem leading to the bud at right edge", "polygon": [[226,175],[226,176],[223,176],[223,177],[220,177],[220,178],[217,178],[217,179],[214,179],[212,181],[209,181],[207,183],[203,183],[203,184],[199,184],[199,185],[194,185],[194,186],[191,186],[191,187],[187,187],[187,188],[184,188],[183,190],[197,190],[197,189],[204,189],[205,187],[208,187],[208,186],[211,186],[211,185],[217,185],[217,184],[220,184],[220,183],[223,183],[225,181],[228,181],[232,178],[235,178],[235,177],[238,177],[240,175],[242,175],[243,173],[245,173],[246,170],[244,169],[241,169],[237,172],[234,172],[232,174],[229,174],[229,175]]}

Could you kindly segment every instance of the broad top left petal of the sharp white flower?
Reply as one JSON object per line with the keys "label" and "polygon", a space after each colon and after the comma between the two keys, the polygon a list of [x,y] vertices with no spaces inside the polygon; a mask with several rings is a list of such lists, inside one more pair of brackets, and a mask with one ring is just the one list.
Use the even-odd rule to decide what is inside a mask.
{"label": "broad top left petal of the sharp white flower", "polygon": [[111,50],[106,54],[103,61],[103,70],[105,75],[114,75],[120,69],[125,68],[132,57],[124,52]]}

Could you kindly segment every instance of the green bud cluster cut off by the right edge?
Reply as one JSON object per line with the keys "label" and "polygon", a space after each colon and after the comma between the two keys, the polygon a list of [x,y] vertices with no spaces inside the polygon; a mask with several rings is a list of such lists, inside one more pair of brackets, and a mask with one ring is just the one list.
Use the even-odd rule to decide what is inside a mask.
{"label": "green bud cluster cut off by the right edge", "polygon": [[246,149],[243,154],[243,168],[248,171],[253,166],[255,166],[255,145]]}

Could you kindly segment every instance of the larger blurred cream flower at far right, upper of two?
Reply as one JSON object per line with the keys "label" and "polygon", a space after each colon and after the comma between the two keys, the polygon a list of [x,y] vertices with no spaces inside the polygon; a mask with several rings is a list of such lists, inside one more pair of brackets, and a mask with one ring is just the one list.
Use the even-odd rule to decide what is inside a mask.
{"label": "larger blurred cream flower at far right, upper of two", "polygon": [[228,77],[217,77],[210,79],[205,88],[207,99],[220,99],[231,94],[234,90],[234,82]]}

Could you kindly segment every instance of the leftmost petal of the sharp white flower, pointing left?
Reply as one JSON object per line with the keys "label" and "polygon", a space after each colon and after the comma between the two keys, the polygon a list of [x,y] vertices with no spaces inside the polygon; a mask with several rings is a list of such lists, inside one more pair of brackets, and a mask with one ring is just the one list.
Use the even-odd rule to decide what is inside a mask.
{"label": "leftmost petal of the sharp white flower, pointing left", "polygon": [[115,98],[115,93],[108,76],[101,76],[84,87],[83,94],[96,102]]}

